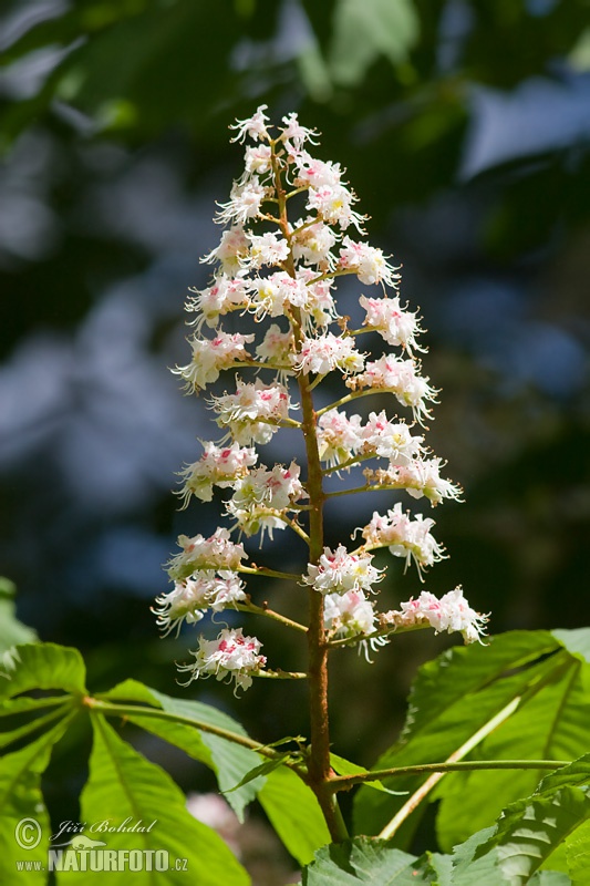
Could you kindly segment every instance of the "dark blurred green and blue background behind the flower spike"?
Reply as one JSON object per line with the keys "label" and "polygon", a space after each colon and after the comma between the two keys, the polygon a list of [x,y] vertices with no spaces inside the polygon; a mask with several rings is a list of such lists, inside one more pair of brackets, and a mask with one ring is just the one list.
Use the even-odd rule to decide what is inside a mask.
{"label": "dark blurred green and blue background behind the flower spike", "polygon": [[[161,640],[149,612],[178,533],[219,522],[215,503],[179,513],[170,493],[216,429],[168,368],[188,362],[186,290],[207,282],[215,200],[240,173],[228,124],[268,104],[346,167],[428,330],[442,394],[427,442],[465,504],[417,508],[449,554],[425,587],[463,584],[493,632],[589,624],[587,0],[4,0],[0,52],[0,575],[22,621],[81,648],[92,689],[134,677],[265,741],[304,734],[300,687],[255,683],[238,702],[213,681],[180,690],[174,661],[195,633]],[[345,313],[360,291],[340,293]],[[346,509],[330,511],[333,545]],[[298,571],[284,535],[263,556]],[[384,608],[420,589],[393,564]],[[298,590],[278,593],[303,617]],[[247,630],[272,663],[301,664],[290,637]],[[416,667],[446,645],[400,638],[373,664],[339,652],[338,751],[370,765]],[[48,785],[72,820],[80,738]],[[210,787],[138,741],[186,790]]]}

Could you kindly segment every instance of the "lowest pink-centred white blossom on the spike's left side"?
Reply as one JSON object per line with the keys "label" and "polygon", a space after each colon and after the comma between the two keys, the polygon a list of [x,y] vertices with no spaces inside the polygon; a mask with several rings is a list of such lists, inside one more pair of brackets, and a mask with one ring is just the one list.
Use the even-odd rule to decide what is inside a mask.
{"label": "lowest pink-centred white blossom on the spike's left side", "polygon": [[262,643],[256,637],[245,637],[241,628],[224,628],[215,640],[199,638],[199,647],[190,655],[194,664],[180,664],[179,671],[188,671],[185,686],[199,678],[215,677],[217,680],[236,682],[236,689],[248,689],[252,674],[260,672],[267,660],[260,655]]}

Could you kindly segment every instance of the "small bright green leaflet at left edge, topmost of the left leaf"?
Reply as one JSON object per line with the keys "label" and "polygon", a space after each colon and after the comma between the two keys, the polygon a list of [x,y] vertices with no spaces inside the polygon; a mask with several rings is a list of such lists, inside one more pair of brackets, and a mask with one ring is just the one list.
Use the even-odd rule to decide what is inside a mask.
{"label": "small bright green leaflet at left edge, topmost of the left leaf", "polygon": [[0,699],[30,689],[86,692],[86,671],[77,649],[55,643],[29,643],[14,647],[13,658],[13,663],[0,673]]}

